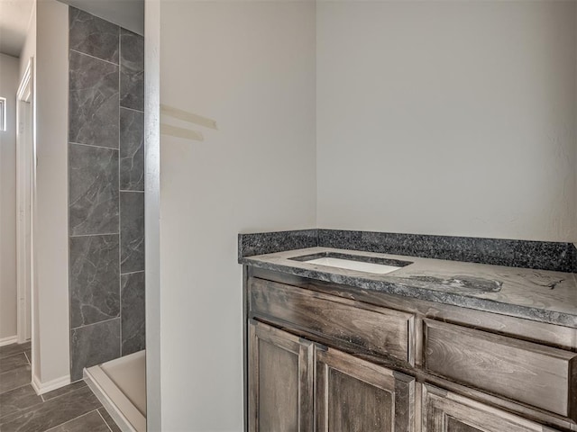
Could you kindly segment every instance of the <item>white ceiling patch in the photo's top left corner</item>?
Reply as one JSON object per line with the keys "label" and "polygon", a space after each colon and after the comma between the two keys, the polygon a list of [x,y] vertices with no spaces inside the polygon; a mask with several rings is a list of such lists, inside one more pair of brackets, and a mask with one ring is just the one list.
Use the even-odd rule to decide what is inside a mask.
{"label": "white ceiling patch in the photo's top left corner", "polygon": [[1,53],[20,57],[33,5],[33,0],[0,0]]}

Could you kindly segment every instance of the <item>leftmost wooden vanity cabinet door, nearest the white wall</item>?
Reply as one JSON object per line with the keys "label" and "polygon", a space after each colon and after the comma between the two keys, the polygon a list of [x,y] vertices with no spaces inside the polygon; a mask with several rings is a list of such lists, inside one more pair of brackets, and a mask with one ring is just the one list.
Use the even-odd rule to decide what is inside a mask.
{"label": "leftmost wooden vanity cabinet door, nearest the white wall", "polygon": [[249,431],[313,431],[313,344],[249,323]]}

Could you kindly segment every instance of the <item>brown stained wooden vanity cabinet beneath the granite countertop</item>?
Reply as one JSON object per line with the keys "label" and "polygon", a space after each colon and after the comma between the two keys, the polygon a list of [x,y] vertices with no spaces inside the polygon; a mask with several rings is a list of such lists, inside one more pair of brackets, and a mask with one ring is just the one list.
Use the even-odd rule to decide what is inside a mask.
{"label": "brown stained wooden vanity cabinet beneath the granite countertop", "polygon": [[250,432],[577,431],[575,329],[270,271],[245,286]]}

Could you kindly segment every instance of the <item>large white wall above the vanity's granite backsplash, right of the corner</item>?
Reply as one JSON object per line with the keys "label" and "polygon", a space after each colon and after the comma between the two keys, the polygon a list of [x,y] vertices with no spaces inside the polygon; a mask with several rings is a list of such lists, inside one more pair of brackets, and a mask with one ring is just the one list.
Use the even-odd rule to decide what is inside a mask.
{"label": "large white wall above the vanity's granite backsplash, right of the corner", "polygon": [[317,4],[317,225],[577,238],[576,2]]}

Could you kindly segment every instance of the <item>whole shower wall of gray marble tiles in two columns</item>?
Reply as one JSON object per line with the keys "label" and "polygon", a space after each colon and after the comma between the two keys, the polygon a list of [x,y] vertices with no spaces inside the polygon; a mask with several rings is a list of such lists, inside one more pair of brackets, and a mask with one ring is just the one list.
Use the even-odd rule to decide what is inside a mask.
{"label": "whole shower wall of gray marble tiles in two columns", "polygon": [[69,10],[70,375],[144,348],[144,40]]}

